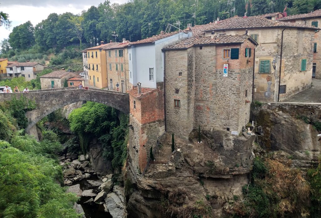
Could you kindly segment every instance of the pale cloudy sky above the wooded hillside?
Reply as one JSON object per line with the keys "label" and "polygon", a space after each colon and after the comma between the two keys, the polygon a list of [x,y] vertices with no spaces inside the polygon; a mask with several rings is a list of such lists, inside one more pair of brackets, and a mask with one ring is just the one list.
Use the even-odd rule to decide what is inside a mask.
{"label": "pale cloudy sky above the wooded hillside", "polygon": [[[91,5],[98,6],[104,0],[0,0],[0,11],[9,14],[12,21],[11,29],[0,27],[0,41],[8,38],[13,27],[26,21],[31,21],[35,26],[46,19],[50,13],[71,12],[74,14],[87,10]],[[128,0],[110,0],[110,3],[124,3]]]}

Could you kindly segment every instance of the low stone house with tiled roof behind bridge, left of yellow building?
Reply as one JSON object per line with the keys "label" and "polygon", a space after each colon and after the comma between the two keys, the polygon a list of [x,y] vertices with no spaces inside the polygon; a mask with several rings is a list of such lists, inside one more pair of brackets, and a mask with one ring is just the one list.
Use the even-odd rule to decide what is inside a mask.
{"label": "low stone house with tiled roof behind bridge, left of yellow building", "polygon": [[45,74],[40,76],[41,89],[63,88],[65,80],[71,77],[81,78],[80,75],[68,71],[53,71]]}

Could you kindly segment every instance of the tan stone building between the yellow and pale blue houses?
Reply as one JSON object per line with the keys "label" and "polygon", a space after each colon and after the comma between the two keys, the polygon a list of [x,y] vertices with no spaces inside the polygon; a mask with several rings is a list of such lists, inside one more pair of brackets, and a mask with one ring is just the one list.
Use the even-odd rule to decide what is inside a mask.
{"label": "tan stone building between the yellow and pale blue houses", "polygon": [[[132,86],[129,84],[129,66],[128,66],[128,45],[129,41],[123,39],[123,42],[117,43],[104,49],[107,60],[107,83],[108,89],[126,93]],[[118,86],[117,86],[118,84]]]}

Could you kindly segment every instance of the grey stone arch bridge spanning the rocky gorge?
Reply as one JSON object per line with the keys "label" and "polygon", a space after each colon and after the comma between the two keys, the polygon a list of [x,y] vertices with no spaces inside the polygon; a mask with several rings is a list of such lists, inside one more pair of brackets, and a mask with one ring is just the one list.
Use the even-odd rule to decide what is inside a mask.
{"label": "grey stone arch bridge spanning the rocky gorge", "polygon": [[31,90],[29,93],[0,94],[0,101],[10,101],[13,97],[18,99],[20,96],[25,96],[30,100],[34,100],[37,105],[36,109],[26,112],[26,117],[29,121],[26,132],[30,132],[30,129],[49,113],[78,101],[98,102],[114,107],[123,113],[129,113],[128,94],[95,88],[84,90],[68,87]]}

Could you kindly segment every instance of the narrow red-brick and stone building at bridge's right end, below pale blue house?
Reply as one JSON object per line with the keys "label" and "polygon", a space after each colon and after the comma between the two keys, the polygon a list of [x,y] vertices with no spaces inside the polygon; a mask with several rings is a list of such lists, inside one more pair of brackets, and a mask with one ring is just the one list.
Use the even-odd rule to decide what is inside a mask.
{"label": "narrow red-brick and stone building at bridge's right end, below pale blue house", "polygon": [[150,148],[165,132],[163,87],[135,86],[127,91],[130,101],[129,154],[137,172],[143,172],[150,156]]}

